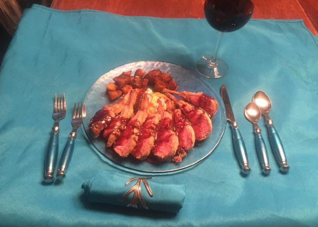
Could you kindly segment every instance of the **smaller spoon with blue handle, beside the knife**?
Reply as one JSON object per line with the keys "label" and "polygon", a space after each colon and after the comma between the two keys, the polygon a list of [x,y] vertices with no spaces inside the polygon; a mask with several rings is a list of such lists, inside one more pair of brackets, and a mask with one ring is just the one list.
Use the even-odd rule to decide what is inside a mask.
{"label": "smaller spoon with blue handle, beside the knife", "polygon": [[257,125],[257,122],[261,118],[260,109],[255,103],[250,102],[246,105],[244,113],[246,118],[253,123],[255,133],[255,146],[258,160],[260,162],[262,172],[267,175],[271,172],[271,168],[269,167],[266,145],[263,136],[261,136],[261,130]]}

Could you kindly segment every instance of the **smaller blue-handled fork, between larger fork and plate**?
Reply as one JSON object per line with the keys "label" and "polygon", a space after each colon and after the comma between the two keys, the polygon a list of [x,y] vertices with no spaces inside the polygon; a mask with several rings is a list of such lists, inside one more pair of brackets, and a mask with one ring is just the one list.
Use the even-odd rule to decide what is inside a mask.
{"label": "smaller blue-handled fork, between larger fork and plate", "polygon": [[73,117],[72,117],[72,131],[69,134],[69,138],[64,147],[61,160],[59,163],[59,171],[57,174],[57,178],[63,180],[66,177],[66,171],[68,169],[69,163],[71,161],[73,150],[74,150],[74,142],[77,137],[77,129],[83,124],[83,119],[86,117],[86,107],[85,103],[78,103],[76,107],[76,103],[74,104]]}

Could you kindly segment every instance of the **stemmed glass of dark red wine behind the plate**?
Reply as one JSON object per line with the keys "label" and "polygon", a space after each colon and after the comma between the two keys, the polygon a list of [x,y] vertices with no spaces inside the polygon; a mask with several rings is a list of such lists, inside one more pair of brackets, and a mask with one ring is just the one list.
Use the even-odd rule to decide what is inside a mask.
{"label": "stemmed glass of dark red wine behind the plate", "polygon": [[254,12],[251,0],[205,0],[204,14],[208,23],[220,31],[212,56],[202,56],[197,71],[207,78],[221,78],[228,72],[228,65],[217,57],[219,44],[224,32],[236,31],[248,23]]}

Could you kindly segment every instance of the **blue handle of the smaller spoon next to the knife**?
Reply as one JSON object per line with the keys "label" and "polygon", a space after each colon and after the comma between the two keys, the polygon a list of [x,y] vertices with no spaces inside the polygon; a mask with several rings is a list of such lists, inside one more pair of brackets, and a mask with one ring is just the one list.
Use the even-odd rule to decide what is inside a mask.
{"label": "blue handle of the smaller spoon next to the knife", "polygon": [[266,149],[263,136],[261,136],[260,133],[255,133],[255,146],[256,146],[257,156],[261,164],[262,172],[264,174],[269,174],[271,172],[271,169],[269,167],[267,149]]}

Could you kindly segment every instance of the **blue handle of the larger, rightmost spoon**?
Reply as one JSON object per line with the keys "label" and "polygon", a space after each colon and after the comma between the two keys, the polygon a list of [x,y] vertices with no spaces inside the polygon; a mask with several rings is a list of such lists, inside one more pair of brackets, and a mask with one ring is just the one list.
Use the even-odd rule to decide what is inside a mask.
{"label": "blue handle of the larger, rightmost spoon", "polygon": [[267,131],[268,131],[269,142],[271,144],[271,148],[276,158],[276,161],[279,165],[280,171],[288,172],[289,166],[287,165],[287,159],[286,159],[283,143],[280,140],[274,125],[267,124]]}

